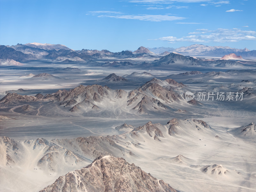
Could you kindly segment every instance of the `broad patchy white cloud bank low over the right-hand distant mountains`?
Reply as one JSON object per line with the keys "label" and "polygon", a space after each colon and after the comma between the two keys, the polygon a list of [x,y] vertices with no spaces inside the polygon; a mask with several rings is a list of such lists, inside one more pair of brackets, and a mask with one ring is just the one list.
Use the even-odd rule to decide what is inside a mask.
{"label": "broad patchy white cloud bank low over the right-hand distant mountains", "polygon": [[256,40],[256,31],[246,31],[238,28],[233,29],[223,29],[219,28],[217,30],[208,30],[208,29],[196,29],[194,32],[188,33],[189,36],[183,37],[174,37],[166,36],[160,37],[158,39],[151,40],[162,40],[167,41],[168,43],[176,43],[180,41],[187,42],[238,42],[242,40]]}

